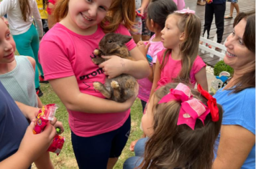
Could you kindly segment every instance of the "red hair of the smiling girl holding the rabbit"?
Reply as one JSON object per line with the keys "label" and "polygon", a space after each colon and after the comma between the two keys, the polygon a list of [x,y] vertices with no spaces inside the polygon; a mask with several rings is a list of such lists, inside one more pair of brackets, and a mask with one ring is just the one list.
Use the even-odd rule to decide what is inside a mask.
{"label": "red hair of the smiling girl holding the rabbit", "polygon": [[[68,1],[58,0],[54,9],[56,21],[61,21],[68,14]],[[101,27],[105,33],[115,32],[119,24],[123,23],[127,29],[132,30],[135,20],[134,0],[112,0],[112,4],[105,18],[101,21]]]}

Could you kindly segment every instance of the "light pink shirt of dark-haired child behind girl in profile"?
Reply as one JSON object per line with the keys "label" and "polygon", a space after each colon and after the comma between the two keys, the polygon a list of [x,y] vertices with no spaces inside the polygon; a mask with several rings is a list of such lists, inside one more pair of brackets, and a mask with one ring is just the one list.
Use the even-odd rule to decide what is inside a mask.
{"label": "light pink shirt of dark-haired child behind girl in profile", "polygon": [[[154,38],[155,34],[149,40],[150,48],[147,51],[147,61],[149,62],[150,67],[157,62],[157,53],[165,49],[165,47],[163,47],[163,42],[152,42],[152,39]],[[138,79],[138,83],[140,84],[138,97],[140,100],[147,102],[147,100],[150,98],[152,82],[150,82],[149,79],[144,78]]]}

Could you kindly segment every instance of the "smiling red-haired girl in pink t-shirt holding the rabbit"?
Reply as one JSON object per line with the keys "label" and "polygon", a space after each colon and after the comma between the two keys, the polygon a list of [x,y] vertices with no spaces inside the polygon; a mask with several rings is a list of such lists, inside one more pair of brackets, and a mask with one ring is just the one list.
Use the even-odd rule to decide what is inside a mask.
{"label": "smiling red-haired girl in pink t-shirt holding the rabbit", "polygon": [[128,11],[132,9],[134,1],[60,0],[54,12],[60,22],[40,44],[45,79],[68,110],[79,168],[113,168],[129,137],[129,108],[137,95],[124,103],[106,100],[94,90],[93,82],[104,83],[106,75],[110,79],[119,74],[147,77],[147,60],[133,40],[127,48],[135,61],[110,56],[96,65],[91,59],[106,32],[130,36],[135,13]]}

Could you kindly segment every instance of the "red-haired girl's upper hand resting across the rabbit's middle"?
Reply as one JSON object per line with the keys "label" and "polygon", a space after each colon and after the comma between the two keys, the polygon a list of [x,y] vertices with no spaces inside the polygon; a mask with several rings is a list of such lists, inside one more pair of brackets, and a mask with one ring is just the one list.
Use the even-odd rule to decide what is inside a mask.
{"label": "red-haired girl's upper hand resting across the rabbit's middle", "polygon": [[124,73],[125,62],[127,59],[122,59],[117,56],[101,56],[104,59],[108,59],[105,62],[99,64],[104,71],[104,74],[109,75],[109,79],[119,76]]}

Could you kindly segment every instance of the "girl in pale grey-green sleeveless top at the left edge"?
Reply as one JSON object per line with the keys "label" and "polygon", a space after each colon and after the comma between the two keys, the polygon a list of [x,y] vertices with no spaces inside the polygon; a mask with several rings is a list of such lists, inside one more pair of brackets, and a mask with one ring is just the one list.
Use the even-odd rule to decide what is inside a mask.
{"label": "girl in pale grey-green sleeveless top at the left edge", "polygon": [[[0,44],[1,83],[16,102],[41,108],[42,102],[34,90],[35,59],[14,56],[16,44],[3,19],[0,19],[0,29],[2,30],[0,32],[0,42],[2,42]],[[63,126],[60,127],[63,131]],[[37,165],[37,168],[54,168],[48,152],[45,152],[41,158],[36,160],[35,165]]]}

